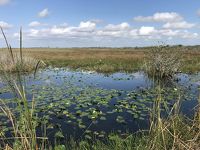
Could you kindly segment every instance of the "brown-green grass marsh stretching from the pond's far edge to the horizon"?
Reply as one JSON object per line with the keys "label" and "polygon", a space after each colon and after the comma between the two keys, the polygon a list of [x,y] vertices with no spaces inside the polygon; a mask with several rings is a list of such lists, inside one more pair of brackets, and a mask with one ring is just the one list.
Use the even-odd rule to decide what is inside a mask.
{"label": "brown-green grass marsh stretching from the pond's far edge to the horizon", "polygon": [[[97,72],[133,72],[141,70],[149,48],[27,48],[24,53],[47,65]],[[183,47],[180,71],[200,71],[200,48]],[[4,50],[1,49],[0,52]],[[18,51],[15,49],[14,51]]]}

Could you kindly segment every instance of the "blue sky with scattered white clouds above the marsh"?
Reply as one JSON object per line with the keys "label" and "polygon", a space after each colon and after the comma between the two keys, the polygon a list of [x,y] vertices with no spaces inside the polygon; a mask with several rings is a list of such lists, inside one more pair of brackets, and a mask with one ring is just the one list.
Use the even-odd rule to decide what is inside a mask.
{"label": "blue sky with scattered white clouds above the marsh", "polygon": [[[12,47],[200,45],[198,0],[0,0]],[[5,47],[0,35],[0,47]]]}

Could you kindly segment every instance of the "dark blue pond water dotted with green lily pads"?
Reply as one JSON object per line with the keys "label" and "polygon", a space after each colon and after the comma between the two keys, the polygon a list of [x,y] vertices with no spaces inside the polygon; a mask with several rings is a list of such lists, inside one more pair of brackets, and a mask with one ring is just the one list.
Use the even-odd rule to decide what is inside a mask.
{"label": "dark blue pond water dotted with green lily pads", "polygon": [[[181,97],[181,113],[191,117],[197,105],[200,74],[177,74],[162,89],[170,108]],[[158,91],[143,72],[100,74],[46,68],[36,77],[25,76],[29,101],[34,96],[40,122],[48,137],[103,138],[107,133],[136,132],[149,127],[149,115]],[[0,98],[12,103],[8,87],[0,84]]]}

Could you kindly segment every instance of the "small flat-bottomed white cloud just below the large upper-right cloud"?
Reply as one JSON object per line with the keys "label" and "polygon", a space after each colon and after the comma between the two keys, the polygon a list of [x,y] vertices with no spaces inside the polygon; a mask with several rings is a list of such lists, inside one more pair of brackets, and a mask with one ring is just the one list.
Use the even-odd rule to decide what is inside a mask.
{"label": "small flat-bottomed white cloud just below the large upper-right cloud", "polygon": [[187,28],[192,28],[194,27],[194,23],[188,23],[186,21],[181,21],[181,22],[168,22],[163,25],[163,28],[168,28],[168,29],[187,29]]}

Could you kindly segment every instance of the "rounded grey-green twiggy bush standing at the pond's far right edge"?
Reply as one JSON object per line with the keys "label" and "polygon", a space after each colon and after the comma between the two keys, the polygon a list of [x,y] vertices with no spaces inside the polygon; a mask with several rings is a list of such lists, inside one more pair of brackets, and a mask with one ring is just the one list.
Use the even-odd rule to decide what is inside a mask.
{"label": "rounded grey-green twiggy bush standing at the pond's far right edge", "polygon": [[182,49],[179,46],[160,45],[153,47],[146,57],[144,70],[149,77],[172,78],[182,66]]}

